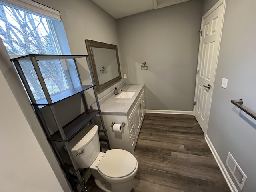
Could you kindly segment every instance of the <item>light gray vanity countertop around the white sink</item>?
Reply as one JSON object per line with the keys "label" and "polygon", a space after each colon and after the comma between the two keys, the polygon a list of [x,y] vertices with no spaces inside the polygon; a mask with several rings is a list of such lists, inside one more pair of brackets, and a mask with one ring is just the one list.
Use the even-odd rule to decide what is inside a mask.
{"label": "light gray vanity countertop around the white sink", "polygon": [[[118,95],[110,96],[106,101],[100,104],[100,109],[102,114],[127,114],[128,110],[131,108],[133,102],[136,100],[140,91],[143,89],[144,84],[136,84],[136,85],[125,85],[121,89],[122,91],[136,91],[136,93],[132,96],[132,98],[116,98]],[[121,93],[122,91],[118,91]]]}

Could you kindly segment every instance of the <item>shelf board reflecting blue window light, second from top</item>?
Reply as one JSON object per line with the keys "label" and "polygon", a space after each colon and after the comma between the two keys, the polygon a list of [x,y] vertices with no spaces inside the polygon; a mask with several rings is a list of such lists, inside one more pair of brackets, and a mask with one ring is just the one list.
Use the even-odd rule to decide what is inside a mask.
{"label": "shelf board reflecting blue window light, second from top", "polygon": [[76,87],[76,88],[67,90],[65,92],[56,94],[54,96],[51,96],[52,103],[50,103],[50,104],[47,102],[46,99],[43,99],[43,100],[39,100],[38,102],[36,102],[36,104],[32,104],[32,105],[34,105],[34,106],[36,106],[36,105],[37,106],[39,106],[39,105],[44,105],[44,106],[45,105],[52,105],[52,104],[54,104],[56,102],[64,100],[64,99],[66,99],[68,97],[71,97],[71,96],[73,96],[75,94],[78,94],[78,93],[80,93],[82,91],[85,91],[85,90],[87,90],[89,88],[92,88],[92,87],[94,87],[94,85],[83,85],[83,86],[80,86],[80,87]]}

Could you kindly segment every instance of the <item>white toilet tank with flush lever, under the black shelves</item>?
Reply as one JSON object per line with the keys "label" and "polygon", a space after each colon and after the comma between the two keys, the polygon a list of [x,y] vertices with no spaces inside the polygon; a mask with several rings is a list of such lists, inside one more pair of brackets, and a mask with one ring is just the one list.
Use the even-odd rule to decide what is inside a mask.
{"label": "white toilet tank with flush lever, under the black shelves", "polygon": [[[84,127],[68,144],[78,168],[89,167],[100,152],[98,126],[88,125]],[[83,153],[81,153],[82,151]],[[79,153],[81,154],[77,155]]]}

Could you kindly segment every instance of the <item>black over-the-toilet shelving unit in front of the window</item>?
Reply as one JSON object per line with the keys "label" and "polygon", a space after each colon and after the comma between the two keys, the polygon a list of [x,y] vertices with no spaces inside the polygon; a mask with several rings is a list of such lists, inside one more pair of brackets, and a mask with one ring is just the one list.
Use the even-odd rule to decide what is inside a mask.
{"label": "black over-the-toilet shelving unit in front of the window", "polygon": [[[38,61],[47,61],[47,60],[67,60],[72,59],[74,62],[74,68],[78,72],[76,59],[77,58],[86,58],[89,72],[90,72],[90,79],[91,79],[91,85],[82,85],[82,82],[80,80],[81,86],[78,86],[76,88],[72,88],[70,90],[66,90],[64,92],[61,92],[59,94],[55,94],[51,96],[48,92],[46,83],[44,81],[44,77],[42,75],[42,72],[40,70],[40,67],[38,65]],[[102,130],[99,130],[99,132],[104,133],[104,138],[102,138],[100,141],[106,142],[108,145],[108,149],[110,149],[110,144],[108,140],[108,135],[106,133],[106,128],[104,126],[103,118],[100,113],[100,105],[98,102],[98,96],[96,93],[96,88],[94,85],[94,80],[92,78],[92,73],[90,69],[90,61],[87,55],[38,55],[38,54],[29,54],[26,56],[17,57],[14,59],[11,59],[11,61],[14,63],[14,66],[16,67],[16,70],[20,76],[20,79],[24,85],[24,88],[26,89],[26,92],[30,98],[31,105],[34,108],[36,115],[38,116],[38,120],[40,121],[40,124],[42,125],[42,128],[46,134],[47,140],[50,143],[52,150],[56,154],[56,157],[58,158],[58,161],[60,163],[60,166],[64,173],[66,174],[67,180],[70,182],[72,186],[72,190],[79,192],[79,191],[86,191],[85,184],[84,184],[84,174],[85,170],[81,170],[78,168],[74,157],[72,155],[71,149],[68,145],[68,142],[76,135],[78,132],[80,132],[87,124],[92,124],[92,119],[98,115],[100,116],[100,120],[102,123]],[[40,83],[40,86],[42,88],[42,91],[44,93],[45,98],[41,100],[36,100],[32,90],[29,86],[29,81],[26,79],[26,76],[22,70],[22,67],[20,65],[20,62],[28,61],[28,63],[32,63],[33,70],[36,73],[36,76],[38,78],[38,82]],[[79,74],[78,74],[79,76]],[[87,102],[86,102],[86,96],[85,91],[93,89],[95,100],[98,106],[97,110],[89,109]],[[70,120],[65,125],[62,125],[60,122],[60,112],[56,110],[55,106],[59,102],[63,102],[67,98],[71,98],[75,95],[80,94],[80,97],[82,98],[82,103],[84,107],[84,112],[80,113],[76,118]],[[61,103],[65,104],[64,102]],[[52,130],[49,130],[49,122],[46,120],[45,117],[46,114],[43,112],[44,108],[48,108],[50,111],[50,116],[52,117],[54,121],[54,132]],[[49,116],[49,114],[47,114]],[[80,186],[80,187],[79,187]],[[78,190],[80,189],[80,190]]]}

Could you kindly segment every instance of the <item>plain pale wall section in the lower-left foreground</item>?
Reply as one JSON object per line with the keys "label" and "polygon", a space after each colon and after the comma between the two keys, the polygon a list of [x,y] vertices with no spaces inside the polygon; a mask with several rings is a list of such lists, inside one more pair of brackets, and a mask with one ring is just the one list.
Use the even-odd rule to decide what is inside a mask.
{"label": "plain pale wall section in the lower-left foreground", "polygon": [[0,94],[1,192],[63,191],[2,71],[0,82],[4,91]]}

